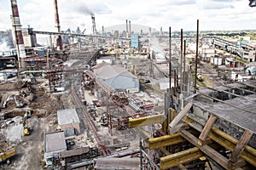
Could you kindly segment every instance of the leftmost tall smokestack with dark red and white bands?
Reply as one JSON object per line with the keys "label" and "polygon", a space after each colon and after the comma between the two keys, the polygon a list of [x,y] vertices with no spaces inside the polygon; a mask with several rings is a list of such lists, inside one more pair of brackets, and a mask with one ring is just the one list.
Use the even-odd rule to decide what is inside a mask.
{"label": "leftmost tall smokestack with dark red and white bands", "polygon": [[12,7],[12,14],[13,14],[12,22],[13,22],[13,29],[15,31],[15,42],[16,42],[18,59],[19,59],[19,69],[24,70],[26,69],[26,62],[24,62],[24,58],[26,58],[26,53],[25,53],[24,40],[22,36],[22,31],[21,31],[18,5],[16,0],[11,0],[10,2]]}

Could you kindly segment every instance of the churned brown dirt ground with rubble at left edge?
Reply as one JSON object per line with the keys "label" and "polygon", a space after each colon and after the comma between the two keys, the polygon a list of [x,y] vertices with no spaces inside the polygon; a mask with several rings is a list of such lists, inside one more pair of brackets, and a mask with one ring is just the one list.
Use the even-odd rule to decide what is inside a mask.
{"label": "churned brown dirt ground with rubble at left edge", "polygon": [[[0,84],[0,92],[5,87],[11,87],[9,90],[15,91],[15,85],[8,82]],[[1,99],[7,99],[8,95],[12,94],[15,93],[2,93]],[[70,104],[68,103],[68,94],[54,95],[41,92],[38,94],[36,92],[35,94],[36,98],[24,108],[15,108],[15,104],[9,102],[8,107],[1,111],[8,113],[9,116],[7,120],[0,121],[0,147],[3,148],[3,143],[7,140],[9,147],[15,148],[16,155],[9,159],[11,162],[9,165],[6,163],[1,164],[0,169],[37,170],[44,167],[44,133],[55,131],[57,122],[56,112],[68,108]],[[2,105],[3,100],[1,101]],[[32,116],[27,119],[27,124],[32,129],[31,134],[28,136],[23,135],[22,122],[24,111],[22,112],[22,109],[32,111]],[[7,122],[10,123],[7,124]]]}

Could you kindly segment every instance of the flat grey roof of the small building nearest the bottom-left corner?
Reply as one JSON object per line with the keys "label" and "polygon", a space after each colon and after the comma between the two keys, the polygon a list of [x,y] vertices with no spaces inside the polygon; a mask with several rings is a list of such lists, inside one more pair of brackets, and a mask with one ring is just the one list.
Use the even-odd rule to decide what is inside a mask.
{"label": "flat grey roof of the small building nearest the bottom-left corner", "polygon": [[58,150],[67,150],[64,132],[46,133],[44,139],[45,153]]}

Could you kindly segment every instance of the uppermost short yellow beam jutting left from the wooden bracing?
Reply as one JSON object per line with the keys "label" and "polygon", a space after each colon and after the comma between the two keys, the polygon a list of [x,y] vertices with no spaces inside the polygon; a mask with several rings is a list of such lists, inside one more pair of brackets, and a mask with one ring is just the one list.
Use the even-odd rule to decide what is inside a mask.
{"label": "uppermost short yellow beam jutting left from the wooden bracing", "polygon": [[164,122],[165,118],[166,116],[164,114],[160,114],[154,116],[141,117],[137,119],[129,119],[129,128],[143,127],[155,123],[162,123]]}

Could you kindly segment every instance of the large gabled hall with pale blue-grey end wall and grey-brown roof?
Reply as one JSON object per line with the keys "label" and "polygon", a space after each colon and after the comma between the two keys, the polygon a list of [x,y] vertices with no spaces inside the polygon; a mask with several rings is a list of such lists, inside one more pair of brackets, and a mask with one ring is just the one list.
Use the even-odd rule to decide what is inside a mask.
{"label": "large gabled hall with pale blue-grey end wall and grey-brown roof", "polygon": [[113,89],[125,89],[130,93],[139,92],[139,81],[123,67],[102,63],[96,65],[94,72],[99,79],[107,82]]}

